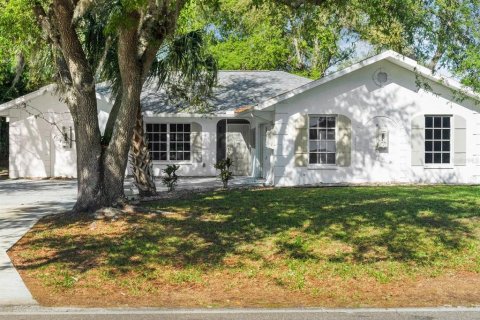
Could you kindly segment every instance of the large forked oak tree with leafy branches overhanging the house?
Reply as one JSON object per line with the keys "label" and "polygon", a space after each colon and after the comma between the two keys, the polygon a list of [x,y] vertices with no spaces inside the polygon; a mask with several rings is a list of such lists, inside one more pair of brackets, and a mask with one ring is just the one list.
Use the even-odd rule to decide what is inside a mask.
{"label": "large forked oak tree with leafy branches overhanging the house", "polygon": [[[215,14],[218,1],[200,2]],[[94,210],[123,198],[124,173],[142,86],[159,49],[175,35],[178,19],[189,2],[0,0],[0,7],[20,8],[18,12],[22,15],[18,19],[10,17],[14,22],[20,21],[23,29],[17,38],[27,37],[32,43],[41,39],[45,47],[51,48],[47,51],[54,62],[56,80],[75,125],[78,154],[75,210]],[[425,63],[448,67],[472,85],[480,82],[476,73],[480,69],[478,0],[255,0],[253,4],[274,5],[293,13],[308,12],[310,7],[334,12],[341,18],[342,29],[355,32],[379,49],[392,48],[419,57]],[[39,28],[23,26],[23,21],[28,24],[31,20],[29,14],[24,16],[25,12],[33,14]],[[1,40],[8,38],[6,30],[1,29],[2,18],[0,47]],[[322,19],[322,15],[318,18]],[[91,41],[83,32],[89,24],[101,31],[97,34],[103,34],[105,41]],[[13,37],[4,41],[3,47],[11,46],[15,40]],[[120,81],[105,139],[98,125],[95,84],[98,68],[105,63],[101,57],[106,57],[111,48]],[[157,68],[161,65],[157,64]]]}

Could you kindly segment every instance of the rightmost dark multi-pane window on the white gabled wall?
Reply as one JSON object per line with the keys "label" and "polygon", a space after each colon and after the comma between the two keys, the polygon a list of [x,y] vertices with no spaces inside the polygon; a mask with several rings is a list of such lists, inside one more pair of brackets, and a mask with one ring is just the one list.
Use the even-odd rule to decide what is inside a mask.
{"label": "rightmost dark multi-pane window on the white gabled wall", "polygon": [[425,164],[450,163],[451,116],[425,116]]}

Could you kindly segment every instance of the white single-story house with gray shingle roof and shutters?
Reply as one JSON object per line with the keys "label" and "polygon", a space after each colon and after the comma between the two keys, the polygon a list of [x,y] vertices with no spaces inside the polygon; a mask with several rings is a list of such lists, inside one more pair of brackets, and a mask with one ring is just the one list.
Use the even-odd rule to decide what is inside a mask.
{"label": "white single-story house with gray shingle roof and shutters", "polygon": [[[480,183],[480,97],[393,51],[316,81],[280,71],[221,71],[210,114],[185,113],[146,85],[154,172],[234,174],[276,186]],[[112,106],[97,88],[100,126]],[[0,105],[11,178],[75,177],[72,120],[54,86]]]}

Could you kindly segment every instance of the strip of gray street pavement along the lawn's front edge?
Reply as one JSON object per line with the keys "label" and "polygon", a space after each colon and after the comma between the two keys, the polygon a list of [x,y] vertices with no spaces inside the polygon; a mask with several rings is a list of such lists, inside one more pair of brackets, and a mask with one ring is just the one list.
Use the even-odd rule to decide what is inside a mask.
{"label": "strip of gray street pavement along the lawn's front edge", "polygon": [[406,309],[68,309],[4,308],[0,320],[473,320],[480,308]]}

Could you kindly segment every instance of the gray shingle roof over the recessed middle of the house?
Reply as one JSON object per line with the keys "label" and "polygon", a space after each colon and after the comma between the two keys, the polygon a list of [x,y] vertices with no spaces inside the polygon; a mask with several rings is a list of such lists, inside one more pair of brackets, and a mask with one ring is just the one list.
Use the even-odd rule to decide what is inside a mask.
{"label": "gray shingle roof over the recessed middle of the house", "polygon": [[[283,71],[219,71],[210,105],[216,113],[233,111],[264,102],[308,82],[311,80]],[[110,88],[102,83],[97,86],[97,92],[109,96]],[[165,91],[157,91],[152,83],[144,86],[141,99],[143,111],[177,113],[185,110],[184,105],[172,105]]]}

